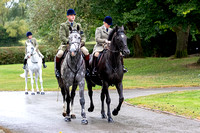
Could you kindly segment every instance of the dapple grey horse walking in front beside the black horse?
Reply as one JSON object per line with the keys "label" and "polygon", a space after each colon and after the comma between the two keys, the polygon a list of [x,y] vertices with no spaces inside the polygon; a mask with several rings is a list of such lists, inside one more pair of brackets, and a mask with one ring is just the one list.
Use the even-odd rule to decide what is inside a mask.
{"label": "dapple grey horse walking in front beside the black horse", "polygon": [[[85,87],[85,62],[81,52],[81,36],[79,33],[79,27],[77,30],[72,30],[70,27],[69,35],[69,48],[68,52],[65,52],[63,62],[61,64],[61,77],[57,78],[61,93],[63,96],[63,116],[66,122],[70,122],[71,118],[76,118],[73,114],[73,102],[75,97],[76,88],[79,85],[79,95],[81,104],[81,116],[82,124],[88,124],[85,113],[85,99],[84,99],[84,87]],[[55,62],[55,61],[54,61]],[[70,93],[70,86],[72,86]],[[70,110],[71,102],[71,110]],[[71,111],[71,115],[70,115]]]}

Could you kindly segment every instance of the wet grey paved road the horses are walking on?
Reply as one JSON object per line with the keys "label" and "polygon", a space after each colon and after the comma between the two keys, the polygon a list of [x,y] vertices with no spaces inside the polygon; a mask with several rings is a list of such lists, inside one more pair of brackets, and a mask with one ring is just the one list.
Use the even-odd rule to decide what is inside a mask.
{"label": "wet grey paved road the horses are walking on", "polygon": [[[192,88],[158,88],[124,90],[124,97],[138,97],[156,93],[178,90],[194,90]],[[87,91],[85,91],[86,108],[89,107]],[[81,125],[78,93],[75,97],[75,113],[77,118],[70,123],[61,115],[62,98],[58,92],[46,92],[42,95],[24,95],[24,92],[0,92],[0,126],[14,133],[129,133],[129,132],[200,132],[200,122],[182,117],[157,113],[123,104],[118,116],[113,116],[114,123],[101,119],[100,91],[94,91],[95,110],[87,112],[88,125]],[[110,90],[111,109],[117,106],[118,94]]]}

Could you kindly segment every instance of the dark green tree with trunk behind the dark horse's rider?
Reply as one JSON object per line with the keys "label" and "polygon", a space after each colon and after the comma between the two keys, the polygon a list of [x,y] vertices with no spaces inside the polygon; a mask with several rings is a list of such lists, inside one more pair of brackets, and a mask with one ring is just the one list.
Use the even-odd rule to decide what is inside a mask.
{"label": "dark green tree with trunk behind the dark horse's rider", "polygon": [[[91,32],[88,34],[94,35],[95,29],[102,25],[105,16],[111,16],[114,26],[124,25],[126,29],[129,29],[127,31],[132,32],[137,26],[137,23],[127,22],[123,19],[124,12],[130,12],[135,9],[136,1],[134,0],[84,0],[82,3],[85,3],[85,5],[79,2],[79,6],[76,9],[79,9],[79,14],[89,25],[88,29]],[[82,5],[81,8],[80,5]],[[129,38],[129,48],[134,50],[134,57],[143,56],[140,36],[130,34],[130,32],[127,32],[127,36]]]}

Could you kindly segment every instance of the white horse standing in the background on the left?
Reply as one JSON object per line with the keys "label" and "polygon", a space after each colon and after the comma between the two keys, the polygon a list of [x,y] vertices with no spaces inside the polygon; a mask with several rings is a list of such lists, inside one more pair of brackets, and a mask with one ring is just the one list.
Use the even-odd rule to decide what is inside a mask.
{"label": "white horse standing in the background on the left", "polygon": [[33,80],[33,74],[35,73],[35,83],[36,83],[36,89],[37,89],[37,94],[40,94],[39,88],[38,88],[38,84],[37,84],[37,80],[38,80],[38,76],[40,76],[40,85],[41,85],[41,95],[44,95],[44,89],[43,89],[43,80],[42,80],[42,58],[39,56],[39,54],[36,52],[36,48],[34,48],[34,46],[30,43],[30,42],[26,42],[27,48],[27,55],[28,56],[28,60],[27,60],[27,65],[26,65],[26,69],[25,69],[25,94],[28,94],[28,88],[27,88],[27,81],[28,81],[28,72],[30,74],[30,78],[31,78],[31,86],[32,86],[32,92],[31,95],[35,95],[34,92],[34,88],[33,88],[33,84],[34,84],[34,80]]}

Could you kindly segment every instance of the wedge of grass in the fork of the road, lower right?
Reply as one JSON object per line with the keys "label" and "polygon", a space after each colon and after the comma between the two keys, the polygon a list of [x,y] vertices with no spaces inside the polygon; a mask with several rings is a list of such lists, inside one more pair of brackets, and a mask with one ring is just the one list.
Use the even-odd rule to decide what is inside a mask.
{"label": "wedge of grass in the fork of the road, lower right", "polygon": [[126,101],[132,105],[200,120],[200,90],[156,94]]}

